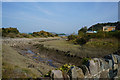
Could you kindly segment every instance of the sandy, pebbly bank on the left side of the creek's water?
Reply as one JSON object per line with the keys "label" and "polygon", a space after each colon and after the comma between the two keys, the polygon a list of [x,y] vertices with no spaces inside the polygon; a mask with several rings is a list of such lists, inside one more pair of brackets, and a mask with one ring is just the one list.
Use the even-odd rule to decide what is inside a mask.
{"label": "sandy, pebbly bank on the left side of the creek's water", "polygon": [[[42,38],[37,39],[37,41],[35,40],[36,39],[27,38],[3,39],[3,78],[39,78],[46,74],[49,70],[54,69],[54,67],[52,67],[51,60],[46,59],[44,61],[39,61],[33,57],[38,56],[37,53],[34,53],[33,55],[31,50],[27,51],[27,49],[32,48],[30,42],[36,44],[37,41],[43,41],[46,39]],[[53,40],[53,38],[49,38],[47,40]]]}

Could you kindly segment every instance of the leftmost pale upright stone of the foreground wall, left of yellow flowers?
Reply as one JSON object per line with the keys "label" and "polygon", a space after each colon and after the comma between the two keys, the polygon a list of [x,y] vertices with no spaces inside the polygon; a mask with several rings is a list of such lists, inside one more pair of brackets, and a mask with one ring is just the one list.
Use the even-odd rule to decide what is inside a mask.
{"label": "leftmost pale upright stone of the foreground wall, left of yellow flowers", "polygon": [[52,79],[55,79],[55,80],[60,79],[60,78],[61,78],[61,80],[63,80],[62,71],[52,70],[51,71],[51,77],[52,77]]}

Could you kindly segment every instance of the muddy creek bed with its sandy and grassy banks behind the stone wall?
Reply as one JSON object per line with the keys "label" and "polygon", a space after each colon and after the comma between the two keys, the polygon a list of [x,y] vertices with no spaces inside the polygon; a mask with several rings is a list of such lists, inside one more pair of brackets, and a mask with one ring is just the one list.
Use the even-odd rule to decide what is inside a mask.
{"label": "muddy creek bed with its sandy and grassy banks behind the stone wall", "polygon": [[[14,78],[15,75],[9,74],[15,73],[20,78],[21,76],[42,77],[49,70],[60,68],[64,64],[81,66],[85,57],[103,57],[113,51],[91,47],[91,44],[93,45],[92,41],[84,46],[75,45],[60,37],[5,38],[3,39],[3,78]],[[8,66],[11,68],[9,69]],[[33,72],[35,74],[31,74]]]}

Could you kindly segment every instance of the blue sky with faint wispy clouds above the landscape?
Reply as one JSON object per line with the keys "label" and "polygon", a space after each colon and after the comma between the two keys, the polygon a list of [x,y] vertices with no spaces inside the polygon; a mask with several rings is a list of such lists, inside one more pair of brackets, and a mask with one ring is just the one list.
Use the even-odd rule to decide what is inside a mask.
{"label": "blue sky with faint wispy clouds above the landscape", "polygon": [[117,2],[3,2],[2,27],[21,33],[77,33],[84,26],[118,21]]}

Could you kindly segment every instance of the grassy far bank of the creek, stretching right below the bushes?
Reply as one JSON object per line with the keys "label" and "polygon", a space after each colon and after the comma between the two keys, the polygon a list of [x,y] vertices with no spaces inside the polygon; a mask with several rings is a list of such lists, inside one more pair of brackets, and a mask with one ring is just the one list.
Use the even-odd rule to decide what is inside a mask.
{"label": "grassy far bank of the creek, stretching right below the bushes", "polygon": [[107,54],[113,53],[118,49],[117,39],[92,39],[86,44],[80,46],[65,40],[55,40],[42,42],[44,47],[54,48],[60,51],[69,51],[71,55],[80,57],[103,57]]}

